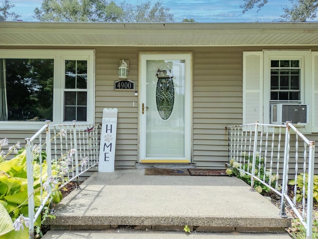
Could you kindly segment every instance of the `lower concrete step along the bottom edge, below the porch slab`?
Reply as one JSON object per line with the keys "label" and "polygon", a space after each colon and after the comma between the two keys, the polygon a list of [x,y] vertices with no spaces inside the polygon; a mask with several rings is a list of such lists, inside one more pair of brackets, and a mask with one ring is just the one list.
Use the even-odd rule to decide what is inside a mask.
{"label": "lower concrete step along the bottom edge, below the porch slab", "polygon": [[43,239],[290,239],[288,234],[198,233],[112,229],[103,231],[49,231]]}

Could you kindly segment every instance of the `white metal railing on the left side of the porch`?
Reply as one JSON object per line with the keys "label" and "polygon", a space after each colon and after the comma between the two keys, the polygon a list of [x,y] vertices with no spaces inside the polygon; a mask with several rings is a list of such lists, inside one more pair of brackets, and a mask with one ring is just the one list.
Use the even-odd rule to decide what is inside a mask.
{"label": "white metal railing on the left side of the porch", "polygon": [[[98,165],[99,137],[99,124],[74,121],[53,125],[47,120],[38,132],[25,139],[30,239],[34,238],[35,221],[52,201],[53,190],[58,191],[71,181],[76,181],[79,188],[79,176]],[[41,175],[37,189],[33,188],[35,161]],[[40,191],[37,205],[35,191]]]}

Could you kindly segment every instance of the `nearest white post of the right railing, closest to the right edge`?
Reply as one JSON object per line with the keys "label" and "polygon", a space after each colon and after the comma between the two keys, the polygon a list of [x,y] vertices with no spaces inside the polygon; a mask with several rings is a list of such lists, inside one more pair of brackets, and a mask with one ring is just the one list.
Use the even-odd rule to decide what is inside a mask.
{"label": "nearest white post of the right railing, closest to the right edge", "polygon": [[[309,144],[308,163],[308,193],[307,193],[307,231],[306,238],[311,239],[313,234],[313,193],[314,193],[314,166],[315,166],[315,141]],[[304,182],[305,183],[305,182]]]}

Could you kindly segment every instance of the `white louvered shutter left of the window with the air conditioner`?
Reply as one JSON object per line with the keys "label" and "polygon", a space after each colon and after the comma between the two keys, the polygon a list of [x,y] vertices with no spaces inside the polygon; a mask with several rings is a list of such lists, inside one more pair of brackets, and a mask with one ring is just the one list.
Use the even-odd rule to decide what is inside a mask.
{"label": "white louvered shutter left of the window with the air conditioner", "polygon": [[243,52],[243,124],[263,122],[263,52]]}

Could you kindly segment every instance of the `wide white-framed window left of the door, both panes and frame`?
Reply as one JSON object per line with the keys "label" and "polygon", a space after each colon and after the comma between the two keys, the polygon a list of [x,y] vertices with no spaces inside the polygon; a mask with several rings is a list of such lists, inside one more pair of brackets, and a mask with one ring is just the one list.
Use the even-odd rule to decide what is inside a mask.
{"label": "wide white-framed window left of the door, both panes and frame", "polygon": [[94,51],[0,50],[0,127],[94,119]]}

